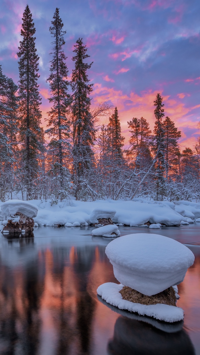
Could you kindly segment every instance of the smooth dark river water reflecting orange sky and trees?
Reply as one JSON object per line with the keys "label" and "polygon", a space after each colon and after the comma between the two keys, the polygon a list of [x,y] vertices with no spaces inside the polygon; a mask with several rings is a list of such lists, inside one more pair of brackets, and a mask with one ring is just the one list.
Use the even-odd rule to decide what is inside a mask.
{"label": "smooth dark river water reflecting orange sky and trees", "polygon": [[[39,227],[34,237],[0,236],[0,354],[199,355],[200,223],[149,230],[120,227],[121,235],[158,233],[195,255],[179,288],[184,323],[166,325],[108,306],[96,295],[117,282],[93,227]],[[117,282],[118,283],[118,282]]]}

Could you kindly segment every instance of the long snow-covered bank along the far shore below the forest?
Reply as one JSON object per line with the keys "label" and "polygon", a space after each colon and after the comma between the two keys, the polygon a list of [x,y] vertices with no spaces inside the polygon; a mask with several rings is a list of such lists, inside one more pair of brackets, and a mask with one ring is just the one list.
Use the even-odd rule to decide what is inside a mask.
{"label": "long snow-covered bank along the far shore below the forest", "polygon": [[[31,200],[30,204],[38,208],[38,225],[66,225],[77,223],[87,225],[98,223],[97,218],[110,217],[114,223],[137,226],[147,222],[165,225],[193,223],[200,218],[200,203],[189,201],[136,201],[97,200],[93,202],[62,201],[51,206],[51,200]],[[7,203],[7,202],[6,202]],[[0,205],[2,202],[0,203]],[[116,212],[116,213],[115,213]],[[183,223],[182,223],[183,224]]]}

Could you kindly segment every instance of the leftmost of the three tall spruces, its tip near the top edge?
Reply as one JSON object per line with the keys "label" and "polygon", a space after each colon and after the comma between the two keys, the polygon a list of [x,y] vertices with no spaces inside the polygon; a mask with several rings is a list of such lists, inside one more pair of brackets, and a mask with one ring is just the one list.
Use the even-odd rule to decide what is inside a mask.
{"label": "leftmost of the three tall spruces, its tip near the top edge", "polygon": [[[21,36],[19,52],[19,129],[21,141],[21,166],[25,168],[25,188],[27,199],[31,198],[33,192],[33,179],[37,175],[38,154],[43,150],[44,135],[41,124],[41,97],[38,92],[37,80],[38,60],[36,53],[35,39],[33,37],[36,29],[34,27],[32,14],[28,5],[22,17]],[[24,148],[25,147],[25,148]]]}

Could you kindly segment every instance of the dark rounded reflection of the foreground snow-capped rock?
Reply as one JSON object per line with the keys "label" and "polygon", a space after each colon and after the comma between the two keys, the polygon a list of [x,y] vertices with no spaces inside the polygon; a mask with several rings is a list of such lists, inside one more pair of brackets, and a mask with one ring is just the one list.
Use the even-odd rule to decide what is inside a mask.
{"label": "dark rounded reflection of the foreground snow-capped rock", "polygon": [[108,343],[111,355],[194,355],[188,334],[182,329],[166,333],[146,322],[120,316]]}

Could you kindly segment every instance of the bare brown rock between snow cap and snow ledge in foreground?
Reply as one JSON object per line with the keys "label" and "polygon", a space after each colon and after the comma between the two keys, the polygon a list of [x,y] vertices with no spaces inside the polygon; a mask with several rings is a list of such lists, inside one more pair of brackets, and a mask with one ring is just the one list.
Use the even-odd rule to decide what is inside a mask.
{"label": "bare brown rock between snow cap and snow ledge in foreground", "polygon": [[162,303],[164,305],[176,306],[177,298],[172,286],[153,296],[143,295],[128,286],[123,286],[120,293],[123,300],[140,303],[142,305],[156,305],[157,303]]}

